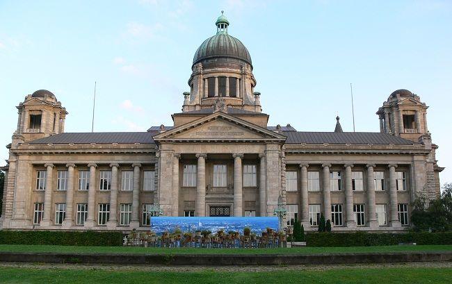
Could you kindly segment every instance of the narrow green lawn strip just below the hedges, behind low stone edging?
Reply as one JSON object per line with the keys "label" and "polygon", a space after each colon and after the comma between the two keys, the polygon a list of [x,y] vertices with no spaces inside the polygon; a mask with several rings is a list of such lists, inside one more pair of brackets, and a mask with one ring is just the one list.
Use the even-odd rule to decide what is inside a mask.
{"label": "narrow green lawn strip just below the hedges, behind low stone edging", "polygon": [[12,252],[61,252],[61,253],[253,253],[253,254],[315,254],[315,253],[392,253],[402,251],[452,251],[452,245],[428,246],[381,246],[381,247],[300,247],[291,249],[195,249],[195,248],[144,248],[144,247],[75,247],[75,246],[49,246],[0,244],[1,251]]}

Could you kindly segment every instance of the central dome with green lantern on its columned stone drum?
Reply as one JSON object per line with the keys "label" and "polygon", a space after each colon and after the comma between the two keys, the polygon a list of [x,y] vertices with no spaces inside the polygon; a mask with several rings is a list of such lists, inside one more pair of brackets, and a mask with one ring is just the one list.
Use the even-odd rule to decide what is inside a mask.
{"label": "central dome with green lantern on its columned stone drum", "polygon": [[231,108],[261,112],[248,49],[229,35],[229,21],[223,11],[215,24],[216,35],[204,40],[193,58],[190,92],[184,92],[182,110],[213,108],[222,97]]}

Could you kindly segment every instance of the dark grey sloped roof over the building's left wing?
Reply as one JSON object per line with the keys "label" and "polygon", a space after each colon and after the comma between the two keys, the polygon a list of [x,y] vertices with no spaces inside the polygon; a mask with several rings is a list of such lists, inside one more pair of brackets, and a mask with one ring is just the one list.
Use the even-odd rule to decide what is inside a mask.
{"label": "dark grey sloped roof over the building's left wing", "polygon": [[152,136],[158,132],[95,132],[60,133],[33,140],[29,144],[154,144]]}

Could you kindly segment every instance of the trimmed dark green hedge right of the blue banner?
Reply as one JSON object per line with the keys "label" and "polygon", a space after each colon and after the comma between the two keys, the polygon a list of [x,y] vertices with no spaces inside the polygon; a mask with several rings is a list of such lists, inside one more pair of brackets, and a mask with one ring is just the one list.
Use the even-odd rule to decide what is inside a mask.
{"label": "trimmed dark green hedge right of the blue banner", "polygon": [[400,243],[452,244],[451,233],[308,233],[308,247],[371,247]]}

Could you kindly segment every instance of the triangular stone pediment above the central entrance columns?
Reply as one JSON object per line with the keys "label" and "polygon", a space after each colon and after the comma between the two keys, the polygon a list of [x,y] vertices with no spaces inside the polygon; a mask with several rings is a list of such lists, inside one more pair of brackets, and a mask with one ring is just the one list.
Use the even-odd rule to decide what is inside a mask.
{"label": "triangular stone pediment above the central entrance columns", "polygon": [[243,119],[224,112],[215,112],[207,117],[159,133],[155,141],[281,141],[286,137],[269,131]]}

